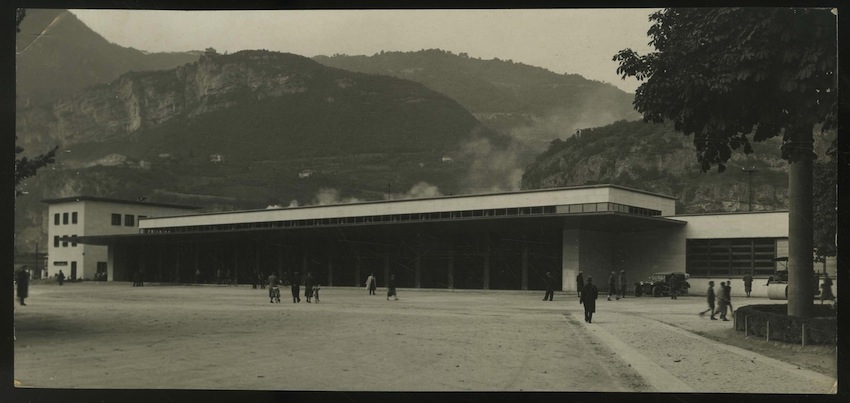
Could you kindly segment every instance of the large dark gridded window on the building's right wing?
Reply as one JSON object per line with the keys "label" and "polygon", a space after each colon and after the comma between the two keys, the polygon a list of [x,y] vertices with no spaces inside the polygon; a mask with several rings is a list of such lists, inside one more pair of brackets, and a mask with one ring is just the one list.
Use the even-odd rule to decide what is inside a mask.
{"label": "large dark gridded window on the building's right wing", "polygon": [[769,276],[775,270],[774,238],[688,239],[687,267],[691,276]]}

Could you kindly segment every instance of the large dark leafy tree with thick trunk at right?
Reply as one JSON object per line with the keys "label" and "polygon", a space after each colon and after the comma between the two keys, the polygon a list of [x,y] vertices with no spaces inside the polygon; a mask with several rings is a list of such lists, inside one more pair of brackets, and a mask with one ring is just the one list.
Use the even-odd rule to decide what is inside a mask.
{"label": "large dark leafy tree with thick trunk at right", "polygon": [[815,8],[669,8],[650,16],[650,45],[614,56],[618,74],[643,81],[635,109],[693,135],[703,171],[732,152],[781,135],[789,168],[788,314],[810,317],[812,161],[816,127],[837,120],[837,18]]}

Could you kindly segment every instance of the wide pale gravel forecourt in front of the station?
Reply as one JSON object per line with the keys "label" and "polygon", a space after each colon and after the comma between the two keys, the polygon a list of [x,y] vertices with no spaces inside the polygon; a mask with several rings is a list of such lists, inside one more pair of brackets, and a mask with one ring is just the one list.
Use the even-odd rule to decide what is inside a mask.
{"label": "wide pale gravel forecourt in front of the station", "polygon": [[[834,347],[745,338],[702,297],[325,287],[34,284],[15,308],[22,388],[828,393]],[[769,303],[751,299],[752,303]],[[744,304],[744,301],[733,301]],[[746,301],[750,302],[750,301]]]}

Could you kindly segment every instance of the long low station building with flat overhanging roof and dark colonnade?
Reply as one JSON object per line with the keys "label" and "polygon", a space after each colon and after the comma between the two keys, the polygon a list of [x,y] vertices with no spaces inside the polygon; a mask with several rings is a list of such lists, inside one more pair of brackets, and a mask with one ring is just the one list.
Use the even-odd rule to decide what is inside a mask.
{"label": "long low station building with flat overhanging roof and dark colonnade", "polygon": [[[68,200],[48,201],[51,213]],[[177,210],[69,241],[105,248],[98,262],[110,281],[141,272],[154,282],[251,283],[311,272],[322,285],[363,286],[372,273],[379,286],[394,274],[398,287],[534,290],[551,272],[562,291],[576,290],[579,270],[600,290],[626,270],[630,283],[684,271],[702,292],[711,279],[766,280],[788,249],[787,211],[677,215],[673,197],[616,185],[201,214],[156,207]],[[753,295],[767,287],[754,284]]]}

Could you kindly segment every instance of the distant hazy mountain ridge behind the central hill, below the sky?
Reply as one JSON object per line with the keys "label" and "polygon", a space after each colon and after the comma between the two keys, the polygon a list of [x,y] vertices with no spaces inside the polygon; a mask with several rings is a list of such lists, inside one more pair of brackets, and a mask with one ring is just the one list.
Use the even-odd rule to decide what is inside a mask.
{"label": "distant hazy mountain ridge behind the central hill, below the sky", "polygon": [[457,100],[482,123],[514,136],[535,153],[581,127],[640,118],[632,107],[634,95],[611,84],[511,60],[482,60],[439,49],[314,60],[420,82]]}

